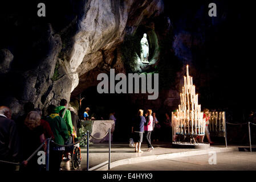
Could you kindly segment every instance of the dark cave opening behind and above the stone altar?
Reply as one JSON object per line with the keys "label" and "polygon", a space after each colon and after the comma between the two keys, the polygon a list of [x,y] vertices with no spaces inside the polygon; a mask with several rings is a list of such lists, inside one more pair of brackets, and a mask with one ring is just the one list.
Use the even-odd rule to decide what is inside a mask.
{"label": "dark cave opening behind and above the stone altar", "polygon": [[[84,90],[80,97],[84,97],[78,110],[80,119],[83,119],[86,107],[90,107],[89,118],[94,117],[96,120],[108,120],[109,114],[115,111],[117,120],[113,142],[127,142],[131,138],[132,118],[136,114],[136,108],[129,101],[129,94],[99,94],[97,86],[91,86]],[[74,100],[79,102],[77,98],[71,98],[71,102]]]}

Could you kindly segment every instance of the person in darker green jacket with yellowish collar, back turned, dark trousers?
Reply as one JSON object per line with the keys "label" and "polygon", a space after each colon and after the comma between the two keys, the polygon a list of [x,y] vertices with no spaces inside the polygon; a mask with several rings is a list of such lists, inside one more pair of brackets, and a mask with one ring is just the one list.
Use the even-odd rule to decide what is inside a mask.
{"label": "person in darker green jacket with yellowish collar, back turned, dark trousers", "polygon": [[[56,111],[56,106],[49,105],[47,108],[48,116],[46,121],[49,123],[52,133],[54,133],[54,142],[64,145],[68,139],[68,129],[66,122],[61,118]],[[62,163],[62,155],[65,150],[65,147],[57,146],[54,143],[51,143],[50,146],[50,171],[59,171],[60,164]]]}

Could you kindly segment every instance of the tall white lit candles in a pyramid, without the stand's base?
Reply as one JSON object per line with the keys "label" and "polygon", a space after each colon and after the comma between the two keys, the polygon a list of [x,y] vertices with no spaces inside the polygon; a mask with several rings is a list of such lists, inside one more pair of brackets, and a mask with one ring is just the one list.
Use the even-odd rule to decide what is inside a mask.
{"label": "tall white lit candles in a pyramid, without the stand's base", "polygon": [[201,112],[201,105],[198,105],[198,94],[196,86],[193,85],[193,78],[189,76],[189,68],[186,66],[184,86],[180,93],[181,104],[177,110],[177,127],[179,134],[204,134],[205,119]]}

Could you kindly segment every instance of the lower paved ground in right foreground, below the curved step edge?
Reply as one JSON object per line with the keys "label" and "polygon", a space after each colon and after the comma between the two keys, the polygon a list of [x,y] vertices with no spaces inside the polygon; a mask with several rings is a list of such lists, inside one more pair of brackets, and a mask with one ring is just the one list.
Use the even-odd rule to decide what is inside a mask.
{"label": "lower paved ground in right foreground, below the curved step edge", "polygon": [[[209,164],[213,155],[194,155],[117,166],[111,171],[251,171],[256,170],[256,152],[218,152],[216,164]],[[210,163],[214,161],[210,159]]]}

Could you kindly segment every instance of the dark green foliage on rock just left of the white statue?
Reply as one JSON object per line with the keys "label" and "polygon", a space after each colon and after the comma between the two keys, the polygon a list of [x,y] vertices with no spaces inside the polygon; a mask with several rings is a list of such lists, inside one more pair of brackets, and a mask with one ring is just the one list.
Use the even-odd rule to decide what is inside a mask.
{"label": "dark green foliage on rock just left of the white statue", "polygon": [[121,58],[129,73],[136,67],[137,55],[141,53],[140,38],[137,35],[125,35],[121,44]]}

